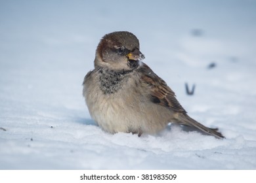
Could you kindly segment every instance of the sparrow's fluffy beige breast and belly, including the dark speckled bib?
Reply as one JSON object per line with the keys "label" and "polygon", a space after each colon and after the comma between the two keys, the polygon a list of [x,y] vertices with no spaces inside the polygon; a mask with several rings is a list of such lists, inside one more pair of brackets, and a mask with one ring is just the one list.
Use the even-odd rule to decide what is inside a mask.
{"label": "sparrow's fluffy beige breast and belly, including the dark speckled bib", "polygon": [[163,107],[148,101],[136,75],[93,72],[84,91],[91,117],[110,133],[156,133],[167,124],[158,112]]}

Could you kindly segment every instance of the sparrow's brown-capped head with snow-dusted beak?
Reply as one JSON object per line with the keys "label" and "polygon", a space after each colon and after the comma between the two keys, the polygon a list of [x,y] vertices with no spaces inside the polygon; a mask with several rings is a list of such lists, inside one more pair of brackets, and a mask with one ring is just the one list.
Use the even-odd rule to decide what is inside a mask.
{"label": "sparrow's brown-capped head with snow-dusted beak", "polygon": [[144,55],[133,33],[118,31],[105,35],[96,49],[95,67],[131,71],[139,66]]}

